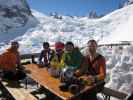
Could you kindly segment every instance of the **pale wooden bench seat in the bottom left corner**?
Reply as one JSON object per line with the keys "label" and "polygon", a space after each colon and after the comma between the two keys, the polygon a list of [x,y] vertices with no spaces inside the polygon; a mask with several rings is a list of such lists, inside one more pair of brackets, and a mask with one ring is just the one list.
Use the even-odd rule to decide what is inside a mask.
{"label": "pale wooden bench seat in the bottom left corner", "polygon": [[[3,87],[10,93],[10,95],[15,99],[15,100],[37,100],[32,94],[27,89],[17,87],[17,83],[9,83],[2,81],[1,84]],[[9,86],[8,84],[14,85],[14,87]],[[16,85],[16,87],[15,87]]]}

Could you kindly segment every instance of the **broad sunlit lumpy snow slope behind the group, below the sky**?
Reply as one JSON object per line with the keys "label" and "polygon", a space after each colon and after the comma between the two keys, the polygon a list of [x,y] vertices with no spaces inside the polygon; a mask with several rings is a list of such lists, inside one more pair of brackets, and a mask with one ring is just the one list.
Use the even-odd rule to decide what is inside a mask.
{"label": "broad sunlit lumpy snow slope behind the group, below the sky", "polygon": [[53,44],[55,41],[66,42],[69,40],[76,45],[80,44],[79,46],[85,46],[91,38],[98,40],[99,43],[132,41],[132,11],[133,5],[130,5],[101,19],[63,16],[61,20],[33,11],[33,15],[40,21],[40,24],[24,34],[21,37],[21,43],[25,47],[37,46],[40,48],[43,41]]}

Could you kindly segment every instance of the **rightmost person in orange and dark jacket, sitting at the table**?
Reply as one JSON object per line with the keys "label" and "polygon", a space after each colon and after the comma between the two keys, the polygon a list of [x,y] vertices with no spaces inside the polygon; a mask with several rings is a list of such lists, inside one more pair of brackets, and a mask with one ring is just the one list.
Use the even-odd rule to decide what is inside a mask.
{"label": "rightmost person in orange and dark jacket, sitting at the table", "polygon": [[[84,57],[84,61],[80,67],[80,70],[78,70],[75,74],[77,76],[81,74],[85,75],[85,79],[89,80],[92,84],[102,82],[102,84],[98,88],[103,89],[105,84],[104,79],[106,77],[105,58],[97,52],[98,44],[95,40],[89,40],[87,47],[88,54]],[[83,95],[83,100],[86,100],[85,98],[89,98],[90,100],[97,100],[97,91],[100,92],[101,90],[95,89],[93,89],[91,92],[86,92]]]}

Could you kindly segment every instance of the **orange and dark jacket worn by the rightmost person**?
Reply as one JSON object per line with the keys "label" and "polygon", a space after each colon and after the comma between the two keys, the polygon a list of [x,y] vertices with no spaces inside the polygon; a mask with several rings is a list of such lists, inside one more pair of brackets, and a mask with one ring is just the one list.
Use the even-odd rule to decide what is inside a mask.
{"label": "orange and dark jacket worn by the rightmost person", "polygon": [[105,58],[98,54],[97,57],[91,61],[89,55],[84,57],[84,61],[80,67],[82,74],[90,74],[96,76],[98,80],[104,80],[106,77],[106,61]]}

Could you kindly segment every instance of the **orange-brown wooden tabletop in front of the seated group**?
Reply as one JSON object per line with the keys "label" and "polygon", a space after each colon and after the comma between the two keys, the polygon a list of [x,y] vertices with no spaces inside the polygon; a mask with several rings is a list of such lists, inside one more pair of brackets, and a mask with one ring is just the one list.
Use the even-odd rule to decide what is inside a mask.
{"label": "orange-brown wooden tabletop in front of the seated group", "polygon": [[[59,98],[66,100],[70,97],[74,97],[74,95],[70,92],[63,92],[59,89],[59,85],[61,84],[59,79],[51,77],[46,68],[40,68],[36,64],[25,65],[25,68],[26,70],[30,71],[28,73],[29,77]],[[92,86],[89,86],[89,88],[91,89]]]}

